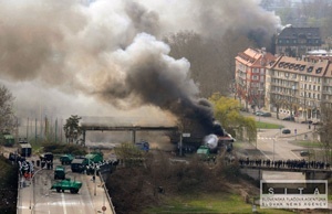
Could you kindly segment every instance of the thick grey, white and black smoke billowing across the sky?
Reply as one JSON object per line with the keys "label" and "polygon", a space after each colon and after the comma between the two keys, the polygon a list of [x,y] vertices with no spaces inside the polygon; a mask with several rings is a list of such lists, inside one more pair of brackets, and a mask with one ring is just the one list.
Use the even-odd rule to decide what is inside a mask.
{"label": "thick grey, white and black smoke billowing across the sky", "polygon": [[[160,38],[179,30],[206,38],[229,29],[273,32],[279,24],[253,0],[0,2],[0,77],[9,86],[23,82],[43,88],[51,93],[49,103],[52,95],[60,97],[58,93],[66,97],[65,103],[68,96],[73,95],[73,103],[75,97],[92,96],[102,100],[93,104],[94,109],[105,104],[126,110],[154,106],[177,117],[201,118],[205,124],[211,124],[212,109],[197,97],[198,87],[188,77],[190,63],[170,57]],[[18,101],[28,94],[13,92]],[[60,99],[50,105],[65,108]],[[35,107],[35,101],[24,101],[18,106]],[[75,108],[65,109],[76,114]]]}

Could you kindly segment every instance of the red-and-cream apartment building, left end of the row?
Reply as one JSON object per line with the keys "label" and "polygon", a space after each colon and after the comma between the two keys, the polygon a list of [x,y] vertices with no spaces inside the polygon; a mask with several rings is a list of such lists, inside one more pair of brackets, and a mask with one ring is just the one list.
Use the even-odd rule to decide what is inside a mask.
{"label": "red-and-cream apartment building, left end of the row", "polygon": [[264,49],[247,49],[236,56],[236,96],[246,108],[261,108],[266,94],[266,67],[277,57]]}

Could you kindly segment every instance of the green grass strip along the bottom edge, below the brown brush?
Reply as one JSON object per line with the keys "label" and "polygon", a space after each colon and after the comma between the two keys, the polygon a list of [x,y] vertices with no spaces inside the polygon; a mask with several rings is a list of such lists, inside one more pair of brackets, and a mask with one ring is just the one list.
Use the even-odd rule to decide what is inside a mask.
{"label": "green grass strip along the bottom edge, below the brown brush", "polygon": [[[257,207],[258,213],[281,214],[292,213],[283,210]],[[252,205],[245,203],[240,195],[211,193],[168,197],[166,205],[146,208],[143,213],[252,213]]]}

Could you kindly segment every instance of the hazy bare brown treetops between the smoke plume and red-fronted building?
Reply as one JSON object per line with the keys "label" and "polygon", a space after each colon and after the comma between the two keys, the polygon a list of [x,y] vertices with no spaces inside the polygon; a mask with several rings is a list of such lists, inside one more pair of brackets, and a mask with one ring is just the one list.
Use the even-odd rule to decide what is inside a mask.
{"label": "hazy bare brown treetops between the smoke plume and red-fronted building", "polygon": [[230,31],[214,39],[183,31],[164,40],[170,45],[173,57],[185,57],[190,62],[191,78],[199,85],[203,97],[214,93],[229,94],[235,78],[235,56],[250,45],[246,36]]}

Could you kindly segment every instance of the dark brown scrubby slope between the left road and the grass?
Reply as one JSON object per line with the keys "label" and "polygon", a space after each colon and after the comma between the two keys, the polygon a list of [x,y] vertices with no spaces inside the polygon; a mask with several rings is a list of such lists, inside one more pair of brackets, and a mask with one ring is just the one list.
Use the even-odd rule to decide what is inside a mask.
{"label": "dark brown scrubby slope between the left road and the grass", "polygon": [[207,163],[195,158],[190,162],[169,161],[163,152],[145,158],[145,162],[125,162],[125,167],[117,168],[106,181],[117,214],[173,206],[173,199],[188,195],[196,195],[193,199],[220,193],[237,195],[241,204],[247,204],[259,194],[259,190],[240,175],[237,164],[220,160],[217,164]]}

